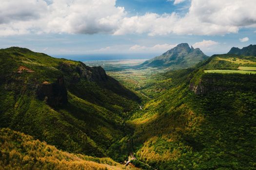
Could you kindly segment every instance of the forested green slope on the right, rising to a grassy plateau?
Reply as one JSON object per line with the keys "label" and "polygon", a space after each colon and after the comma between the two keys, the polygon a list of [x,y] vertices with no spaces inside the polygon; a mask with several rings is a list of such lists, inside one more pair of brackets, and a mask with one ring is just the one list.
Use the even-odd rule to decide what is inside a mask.
{"label": "forested green slope on the right, rising to a grassy plateau", "polygon": [[214,55],[164,73],[171,89],[129,120],[135,156],[158,170],[255,169],[256,74],[205,72],[241,66],[256,58]]}

